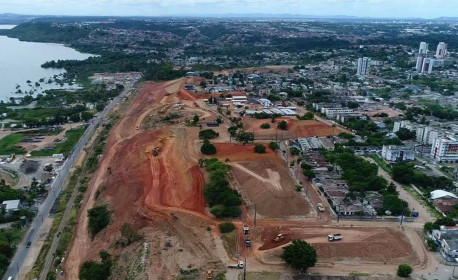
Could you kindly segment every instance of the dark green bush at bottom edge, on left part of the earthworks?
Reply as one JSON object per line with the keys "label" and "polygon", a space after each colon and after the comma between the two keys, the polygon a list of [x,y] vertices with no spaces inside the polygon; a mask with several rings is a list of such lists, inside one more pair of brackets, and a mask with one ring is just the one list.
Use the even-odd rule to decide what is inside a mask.
{"label": "dark green bush at bottom edge, on left part of the earthworks", "polygon": [[110,254],[102,250],[99,252],[101,263],[85,261],[80,268],[79,279],[82,280],[106,280],[110,277],[113,262]]}

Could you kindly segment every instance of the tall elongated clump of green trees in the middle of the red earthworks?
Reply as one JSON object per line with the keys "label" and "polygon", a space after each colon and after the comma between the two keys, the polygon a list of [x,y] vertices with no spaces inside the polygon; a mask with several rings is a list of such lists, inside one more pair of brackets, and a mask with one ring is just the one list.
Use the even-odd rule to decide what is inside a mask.
{"label": "tall elongated clump of green trees in the middle of the red earthworks", "polygon": [[204,189],[205,200],[211,207],[210,212],[218,218],[239,217],[242,200],[236,190],[229,188],[229,166],[217,159],[205,160],[204,165],[210,179]]}

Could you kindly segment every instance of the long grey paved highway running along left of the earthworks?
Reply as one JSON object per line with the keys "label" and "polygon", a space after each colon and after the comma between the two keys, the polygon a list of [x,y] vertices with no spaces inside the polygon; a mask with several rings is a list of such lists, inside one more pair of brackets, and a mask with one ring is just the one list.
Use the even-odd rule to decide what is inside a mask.
{"label": "long grey paved highway running along left of the earthworks", "polygon": [[[8,280],[8,277],[13,277],[13,279],[17,279],[19,271],[21,271],[22,265],[24,264],[24,260],[27,258],[29,252],[29,248],[26,247],[26,244],[27,242],[31,242],[32,244],[34,243],[36,233],[40,231],[40,228],[43,225],[43,221],[49,215],[49,212],[52,206],[54,205],[56,198],[59,196],[59,193],[61,192],[65,184],[65,181],[67,180],[67,177],[70,174],[70,170],[75,164],[75,161],[81,154],[83,148],[91,139],[92,135],[94,135],[95,130],[103,121],[103,119],[108,115],[108,113],[113,109],[114,106],[119,105],[121,103],[122,98],[133,88],[135,82],[136,81],[132,81],[128,85],[126,85],[123,92],[117,97],[113,98],[113,100],[111,100],[107,104],[107,106],[105,106],[105,109],[99,112],[98,115],[92,119],[92,122],[90,123],[89,127],[86,129],[83,136],[80,138],[79,142],[73,148],[70,157],[67,158],[67,160],[64,162],[61,171],[52,183],[50,192],[46,199],[43,201],[43,203],[40,205],[37,216],[31,223],[29,230],[25,234],[21,243],[18,244],[18,248],[11,261],[11,264],[3,276],[4,280]],[[71,201],[72,200],[70,200],[69,203]]]}

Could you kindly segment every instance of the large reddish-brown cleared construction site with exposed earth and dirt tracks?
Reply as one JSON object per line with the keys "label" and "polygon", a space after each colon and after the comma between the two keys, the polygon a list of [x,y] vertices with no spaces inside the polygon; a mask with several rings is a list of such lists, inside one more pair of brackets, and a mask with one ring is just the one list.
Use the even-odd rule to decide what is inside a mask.
{"label": "large reddish-brown cleared construction site with exposed earth and dirt tracks", "polygon": [[[269,149],[263,140],[337,135],[340,128],[282,117],[279,120],[286,120],[288,129],[279,136],[277,129],[259,129],[262,120],[244,117],[244,128],[261,139],[255,143],[267,147],[266,153],[258,154],[253,144],[237,144],[230,137],[230,122],[224,116],[221,125],[211,127],[219,133],[212,140],[217,152],[205,156],[200,152],[199,131],[220,115],[184,89],[190,82],[182,78],[146,83],[133,101],[112,113],[120,120],[110,132],[79,210],[64,261],[65,279],[78,279],[82,263],[98,261],[102,249],[117,258],[111,279],[176,279],[189,270],[197,271],[195,279],[206,279],[211,270],[235,280],[241,270],[228,266],[245,258],[249,272],[293,275],[296,272],[280,258],[282,247],[293,239],[303,239],[316,249],[318,262],[309,269],[312,274],[393,275],[402,263],[420,273],[433,267],[434,260],[412,228],[400,228],[396,222],[336,222],[324,198],[326,209],[318,211],[307,195],[296,190],[297,179],[282,152]],[[199,122],[190,125],[194,115]],[[233,248],[221,238],[218,225],[224,221],[209,212],[203,196],[208,178],[199,160],[211,157],[229,165],[230,185],[243,200],[242,215],[231,220],[236,225]],[[111,221],[92,239],[86,213],[102,204],[108,205]],[[114,244],[125,223],[143,238],[120,248]],[[341,240],[330,242],[332,234],[341,234]]]}

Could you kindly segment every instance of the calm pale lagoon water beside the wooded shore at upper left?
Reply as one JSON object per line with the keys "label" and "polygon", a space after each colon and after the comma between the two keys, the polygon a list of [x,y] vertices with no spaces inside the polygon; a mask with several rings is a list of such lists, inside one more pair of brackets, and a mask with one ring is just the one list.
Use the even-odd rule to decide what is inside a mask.
{"label": "calm pale lagoon water beside the wooded shore at upper left", "polygon": [[[12,28],[12,25],[0,25],[0,29]],[[76,88],[77,85],[61,86],[56,83],[48,84],[49,79],[65,72],[63,69],[43,69],[41,65],[49,60],[77,59],[84,60],[90,54],[77,52],[60,44],[21,42],[18,39],[0,36],[0,100],[10,97],[21,97],[33,92],[34,95],[46,89]],[[39,82],[44,79],[44,82]],[[27,81],[31,83],[27,83]],[[40,85],[35,85],[38,82]]]}

